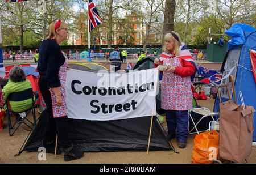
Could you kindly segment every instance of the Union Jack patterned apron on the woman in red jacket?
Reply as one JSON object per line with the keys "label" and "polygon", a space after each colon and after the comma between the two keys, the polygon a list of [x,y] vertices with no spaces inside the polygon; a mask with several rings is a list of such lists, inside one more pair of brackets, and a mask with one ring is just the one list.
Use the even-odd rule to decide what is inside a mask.
{"label": "Union Jack patterned apron on the woman in red jacket", "polygon": [[[180,58],[172,57],[168,59],[172,59],[172,66],[182,67]],[[172,72],[163,72],[161,108],[165,110],[189,110],[192,108],[190,76],[181,77]]]}

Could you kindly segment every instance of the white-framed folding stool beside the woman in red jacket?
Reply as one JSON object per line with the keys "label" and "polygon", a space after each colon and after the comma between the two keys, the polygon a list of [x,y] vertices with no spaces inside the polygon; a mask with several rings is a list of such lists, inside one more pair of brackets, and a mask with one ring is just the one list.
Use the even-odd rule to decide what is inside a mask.
{"label": "white-framed folding stool beside the woman in red jacket", "polygon": [[[194,119],[194,118],[192,117],[192,115],[191,115],[192,112],[201,115],[201,118],[200,118],[199,121],[197,121],[196,123],[195,123],[195,119]],[[199,133],[201,133],[201,132],[204,132],[204,131],[209,130],[209,128],[208,128],[207,130],[199,130],[199,129],[197,128],[197,126],[200,124],[200,122],[203,121],[203,119],[204,119],[205,117],[210,117],[210,118],[212,119],[212,121],[217,121],[217,119],[214,118],[214,116],[217,116],[217,115],[218,115],[217,112],[212,112],[212,111],[210,111],[208,108],[193,108],[193,109],[190,109],[190,110],[189,110],[189,117],[191,118],[191,121],[192,121],[192,123],[193,123],[193,127],[192,127],[192,129],[189,131],[189,133],[190,133],[190,134],[194,134],[194,133],[199,134]],[[195,132],[192,132],[194,129],[196,129],[196,131],[195,131]]]}

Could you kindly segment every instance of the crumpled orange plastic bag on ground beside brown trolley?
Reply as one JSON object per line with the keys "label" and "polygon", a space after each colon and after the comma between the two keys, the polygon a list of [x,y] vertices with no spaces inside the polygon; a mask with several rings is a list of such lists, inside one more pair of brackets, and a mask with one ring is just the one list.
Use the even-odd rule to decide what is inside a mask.
{"label": "crumpled orange plastic bag on ground beside brown trolley", "polygon": [[192,151],[193,164],[210,164],[218,159],[219,136],[215,130],[198,134]]}

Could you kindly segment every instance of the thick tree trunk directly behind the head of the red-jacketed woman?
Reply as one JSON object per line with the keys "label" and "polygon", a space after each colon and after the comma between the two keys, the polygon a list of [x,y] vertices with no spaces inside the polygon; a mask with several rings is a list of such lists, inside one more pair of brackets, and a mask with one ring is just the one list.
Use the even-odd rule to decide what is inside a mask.
{"label": "thick tree trunk directly behind the head of the red-jacketed woman", "polygon": [[163,39],[166,33],[174,30],[175,5],[175,0],[166,0],[166,8],[164,10]]}

